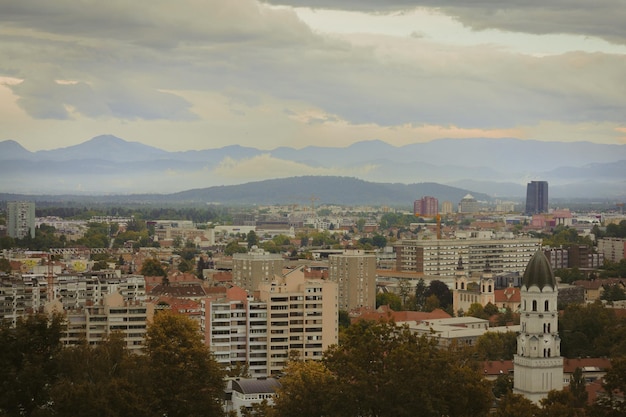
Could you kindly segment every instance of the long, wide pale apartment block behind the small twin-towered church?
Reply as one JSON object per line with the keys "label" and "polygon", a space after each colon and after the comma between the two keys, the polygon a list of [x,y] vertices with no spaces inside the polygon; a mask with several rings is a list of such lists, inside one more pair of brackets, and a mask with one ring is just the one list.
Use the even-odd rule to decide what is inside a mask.
{"label": "long, wide pale apartment block behind the small twin-towered church", "polygon": [[489,262],[494,274],[523,272],[541,246],[540,239],[403,240],[394,245],[396,270],[426,276],[454,277],[459,258],[468,275]]}

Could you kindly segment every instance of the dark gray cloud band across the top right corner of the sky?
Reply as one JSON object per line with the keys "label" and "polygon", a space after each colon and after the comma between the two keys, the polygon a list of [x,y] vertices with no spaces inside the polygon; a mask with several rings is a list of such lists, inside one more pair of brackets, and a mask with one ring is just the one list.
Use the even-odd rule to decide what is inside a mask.
{"label": "dark gray cloud band across the top right corner of the sky", "polygon": [[623,0],[266,0],[296,7],[365,12],[397,12],[428,7],[454,16],[466,26],[533,34],[567,33],[626,43]]}

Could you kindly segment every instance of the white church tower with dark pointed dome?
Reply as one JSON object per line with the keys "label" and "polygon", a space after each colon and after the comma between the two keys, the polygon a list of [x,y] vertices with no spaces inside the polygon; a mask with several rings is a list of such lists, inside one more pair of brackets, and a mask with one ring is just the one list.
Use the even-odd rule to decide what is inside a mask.
{"label": "white church tower with dark pointed dome", "polygon": [[563,389],[557,294],[550,262],[539,250],[528,262],[522,279],[520,333],[513,359],[513,392],[535,403],[549,391]]}

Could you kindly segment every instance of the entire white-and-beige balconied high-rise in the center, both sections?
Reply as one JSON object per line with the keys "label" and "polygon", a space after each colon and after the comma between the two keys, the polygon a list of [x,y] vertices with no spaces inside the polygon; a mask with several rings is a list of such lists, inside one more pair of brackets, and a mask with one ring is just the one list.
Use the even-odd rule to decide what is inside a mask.
{"label": "entire white-and-beige balconied high-rise in the center, both sections", "polygon": [[290,352],[318,360],[337,343],[337,285],[305,278],[304,267],[261,284],[255,296],[239,287],[201,301],[205,343],[226,368],[248,366],[253,377],[282,372]]}

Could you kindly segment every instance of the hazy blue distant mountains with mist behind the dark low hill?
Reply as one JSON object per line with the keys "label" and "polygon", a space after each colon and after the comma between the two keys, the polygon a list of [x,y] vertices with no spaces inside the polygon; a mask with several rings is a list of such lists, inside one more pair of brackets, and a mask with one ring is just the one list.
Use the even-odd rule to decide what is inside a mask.
{"label": "hazy blue distant mountains with mist behind the dark low hill", "polygon": [[[293,177],[317,177],[321,183],[324,177],[350,178],[397,188],[436,183],[503,199],[524,198],[528,181],[546,180],[551,197],[623,199],[626,145],[439,139],[400,147],[374,140],[343,148],[261,150],[233,145],[168,152],[103,135],[75,146],[31,152],[13,140],[0,142],[0,192],[4,193],[187,198],[185,190],[198,194],[197,190],[248,183],[258,188],[261,183],[273,184],[263,180]],[[302,185],[301,180],[295,182]],[[250,195],[255,191],[254,185],[236,188]],[[319,190],[292,191],[296,192],[319,194]]]}

